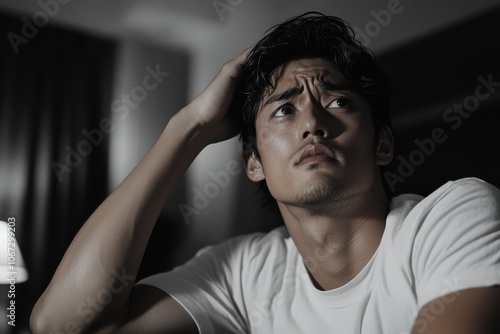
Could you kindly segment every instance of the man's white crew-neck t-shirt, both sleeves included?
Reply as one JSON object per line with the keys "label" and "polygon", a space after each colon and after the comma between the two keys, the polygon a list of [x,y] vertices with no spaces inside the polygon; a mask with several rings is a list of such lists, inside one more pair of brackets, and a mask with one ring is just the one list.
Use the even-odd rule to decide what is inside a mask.
{"label": "man's white crew-neck t-shirt, both sleeves included", "polygon": [[379,248],[344,286],[320,291],[285,227],[233,238],[139,284],[158,287],[201,334],[410,333],[472,287],[500,284],[500,191],[478,179],[391,201]]}

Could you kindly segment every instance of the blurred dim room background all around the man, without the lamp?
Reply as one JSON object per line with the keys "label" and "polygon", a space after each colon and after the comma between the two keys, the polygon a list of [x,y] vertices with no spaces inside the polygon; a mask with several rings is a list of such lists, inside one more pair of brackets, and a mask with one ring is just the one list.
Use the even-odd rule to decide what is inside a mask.
{"label": "blurred dim room background all around the man, without the lamp", "polygon": [[[309,10],[347,20],[396,86],[397,153],[384,175],[394,195],[466,176],[500,186],[497,0],[0,0],[0,220],[15,218],[29,273],[16,326],[2,316],[0,333],[29,333],[75,233],[169,118],[266,29]],[[237,139],[202,152],[139,278],[281,224],[242,166]]]}

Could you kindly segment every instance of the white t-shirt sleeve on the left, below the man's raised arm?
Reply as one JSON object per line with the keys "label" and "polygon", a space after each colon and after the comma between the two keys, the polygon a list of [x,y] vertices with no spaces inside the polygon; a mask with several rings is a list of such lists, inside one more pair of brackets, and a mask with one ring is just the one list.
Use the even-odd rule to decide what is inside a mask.
{"label": "white t-shirt sleeve on the left, below the man's raised arm", "polygon": [[193,317],[201,334],[247,333],[238,268],[251,239],[252,236],[237,237],[206,247],[172,271],[147,277],[137,284],[155,286],[172,296]]}

